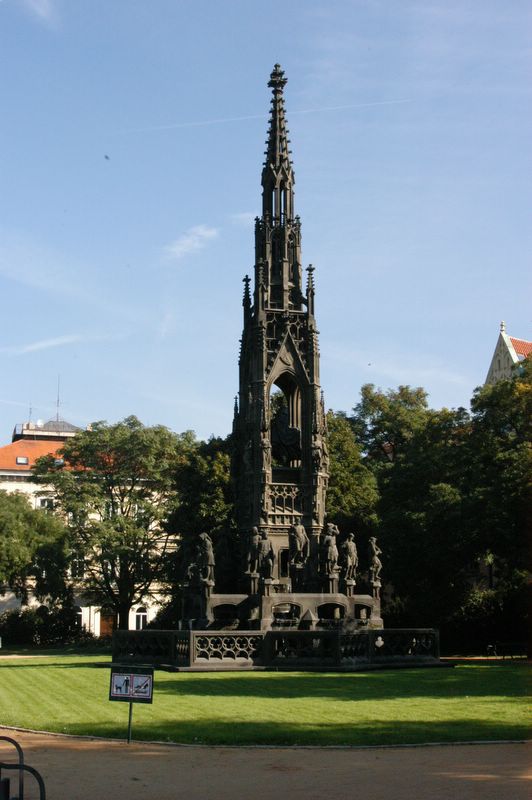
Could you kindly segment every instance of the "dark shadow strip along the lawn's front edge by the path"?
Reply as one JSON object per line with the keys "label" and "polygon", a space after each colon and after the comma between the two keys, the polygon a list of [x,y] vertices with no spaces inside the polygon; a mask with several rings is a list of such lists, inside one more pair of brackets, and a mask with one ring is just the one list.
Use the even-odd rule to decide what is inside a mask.
{"label": "dark shadow strip along the lawn's front edge by the path", "polygon": [[[68,724],[61,730],[74,735],[104,736],[124,739],[127,724],[100,723],[93,727]],[[300,724],[275,722],[240,722],[238,720],[194,720],[147,723],[140,715],[133,718],[133,738],[145,741],[207,745],[313,745],[368,746],[422,744],[428,742],[465,742],[523,740],[525,725],[478,722],[456,719],[446,722],[408,720],[351,724]]]}

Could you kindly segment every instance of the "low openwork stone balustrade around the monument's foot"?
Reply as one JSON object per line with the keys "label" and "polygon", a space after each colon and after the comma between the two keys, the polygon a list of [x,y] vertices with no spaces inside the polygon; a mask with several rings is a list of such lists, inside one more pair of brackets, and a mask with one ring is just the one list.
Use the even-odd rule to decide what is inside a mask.
{"label": "low openwork stone balustrade around the monument's foot", "polygon": [[439,661],[433,628],[116,631],[113,661],[197,669],[356,669]]}

